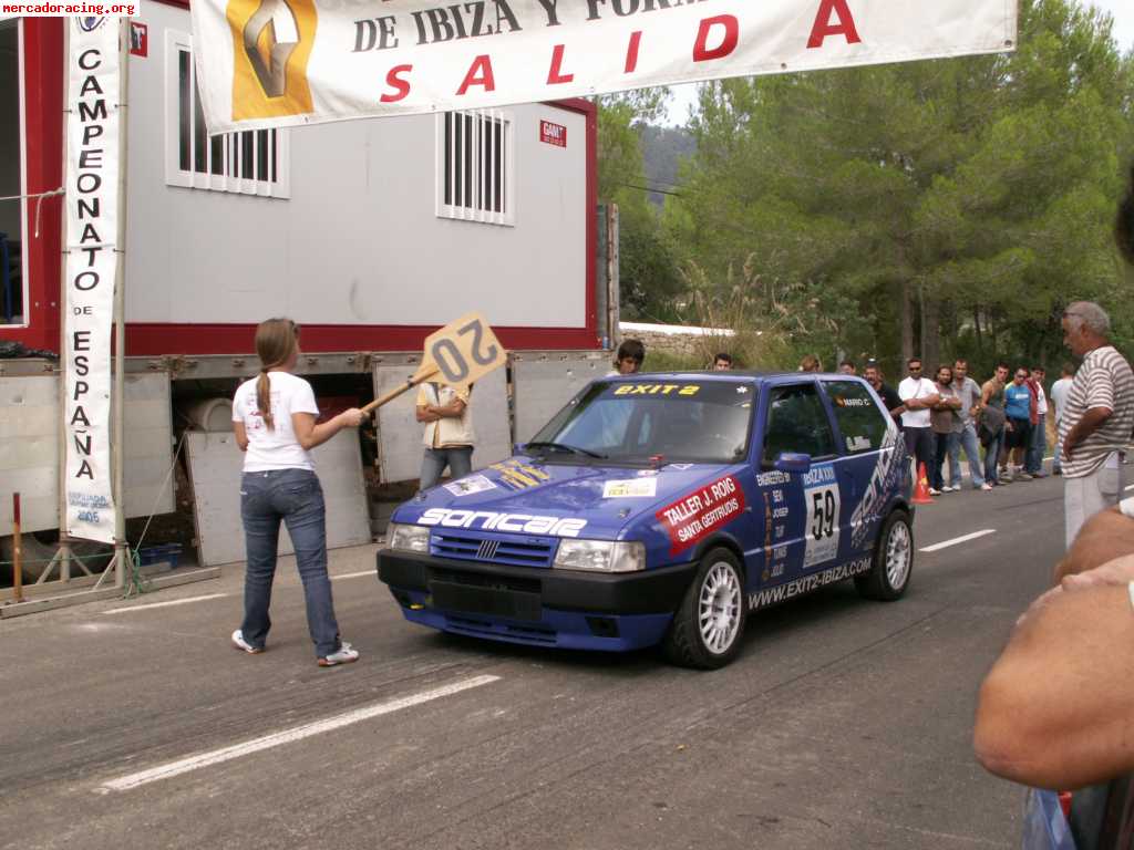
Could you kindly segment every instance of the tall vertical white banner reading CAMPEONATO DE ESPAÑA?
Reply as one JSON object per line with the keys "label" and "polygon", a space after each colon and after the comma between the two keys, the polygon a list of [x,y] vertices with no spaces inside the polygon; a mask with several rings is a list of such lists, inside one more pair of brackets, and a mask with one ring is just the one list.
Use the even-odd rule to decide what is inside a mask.
{"label": "tall vertical white banner reading CAMPEONATO DE ESPA\u00d1A", "polygon": [[67,22],[66,529],[115,542],[110,339],[118,239],[121,29],[117,18]]}

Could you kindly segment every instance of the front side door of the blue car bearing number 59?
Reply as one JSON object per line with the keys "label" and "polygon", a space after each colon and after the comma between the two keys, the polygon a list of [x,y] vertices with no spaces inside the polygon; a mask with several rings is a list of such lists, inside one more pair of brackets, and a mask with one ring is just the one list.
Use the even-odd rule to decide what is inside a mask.
{"label": "front side door of the blue car bearing number 59", "polygon": [[[833,461],[835,435],[814,380],[772,386],[767,393],[760,474],[764,511],[765,569],[779,584],[833,558],[838,551],[841,498]],[[806,474],[775,468],[782,452],[812,458]]]}

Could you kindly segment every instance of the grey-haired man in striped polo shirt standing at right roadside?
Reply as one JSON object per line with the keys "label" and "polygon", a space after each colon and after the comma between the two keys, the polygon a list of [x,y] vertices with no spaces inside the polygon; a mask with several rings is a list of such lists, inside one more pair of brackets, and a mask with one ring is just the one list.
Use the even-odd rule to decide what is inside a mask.
{"label": "grey-haired man in striped polo shirt standing at right roadside", "polygon": [[1122,492],[1118,452],[1134,428],[1134,373],[1110,345],[1110,317],[1098,304],[1075,301],[1063,317],[1064,345],[1083,365],[1059,424],[1067,547],[1090,517]]}

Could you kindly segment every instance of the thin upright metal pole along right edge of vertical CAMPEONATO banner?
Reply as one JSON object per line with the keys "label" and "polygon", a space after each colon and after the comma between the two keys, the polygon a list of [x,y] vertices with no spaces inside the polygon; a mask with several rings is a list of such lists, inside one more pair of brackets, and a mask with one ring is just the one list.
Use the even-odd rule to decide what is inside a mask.
{"label": "thin upright metal pole along right edge of vertical CAMPEONATO banner", "polygon": [[122,486],[122,424],[126,408],[126,139],[129,133],[127,97],[129,92],[130,19],[122,17],[118,29],[118,238],[115,263],[115,437],[111,458],[115,473],[115,587],[126,586],[126,498]]}

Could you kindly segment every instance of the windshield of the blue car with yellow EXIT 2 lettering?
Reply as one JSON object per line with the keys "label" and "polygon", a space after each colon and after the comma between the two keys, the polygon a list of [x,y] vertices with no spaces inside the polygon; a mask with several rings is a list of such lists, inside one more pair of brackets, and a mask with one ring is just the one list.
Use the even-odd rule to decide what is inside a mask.
{"label": "windshield of the blue car with yellow EXIT 2 lettering", "polygon": [[730,464],[746,456],[756,389],[725,381],[601,382],[549,422],[531,451],[569,462]]}

